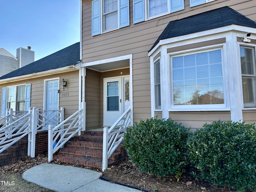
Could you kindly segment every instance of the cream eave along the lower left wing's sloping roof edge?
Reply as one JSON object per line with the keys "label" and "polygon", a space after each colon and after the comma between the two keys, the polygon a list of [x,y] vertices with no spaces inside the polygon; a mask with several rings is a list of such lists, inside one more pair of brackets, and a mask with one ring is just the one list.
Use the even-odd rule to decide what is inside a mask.
{"label": "cream eave along the lower left wing's sloping roof edge", "polygon": [[75,68],[74,65],[70,65],[70,66],[66,66],[66,67],[62,67],[62,68],[58,68],[58,69],[52,69],[52,70],[22,75],[22,76],[16,76],[16,77],[12,77],[12,78],[1,79],[0,84],[4,84],[7,82],[9,83],[9,82],[20,81],[20,80],[27,80],[27,79],[32,79],[32,78],[38,78],[38,77],[42,77],[42,76],[48,76],[48,75],[52,75],[52,74],[69,72],[69,71],[74,71],[74,70],[78,70],[78,69]]}

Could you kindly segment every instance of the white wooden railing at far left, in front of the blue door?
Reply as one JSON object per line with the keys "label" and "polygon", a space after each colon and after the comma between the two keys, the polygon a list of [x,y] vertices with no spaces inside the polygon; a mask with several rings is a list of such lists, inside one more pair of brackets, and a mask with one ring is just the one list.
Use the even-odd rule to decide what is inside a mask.
{"label": "white wooden railing at far left, in front of the blue door", "polygon": [[48,131],[48,124],[55,127],[64,120],[64,108],[39,110],[33,107],[28,111],[7,109],[6,114],[0,118],[0,153],[28,135],[28,156],[31,157],[35,157],[36,133]]}

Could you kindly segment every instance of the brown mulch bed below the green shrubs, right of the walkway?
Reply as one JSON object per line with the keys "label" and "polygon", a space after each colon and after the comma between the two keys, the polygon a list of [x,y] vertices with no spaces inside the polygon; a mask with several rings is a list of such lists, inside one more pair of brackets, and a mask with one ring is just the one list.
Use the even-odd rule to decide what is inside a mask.
{"label": "brown mulch bed below the green shrubs, right of the walkway", "polygon": [[120,183],[137,186],[150,192],[229,192],[229,189],[218,188],[208,182],[194,179],[185,173],[178,180],[173,176],[159,178],[141,172],[134,163],[125,160],[103,172],[103,177]]}

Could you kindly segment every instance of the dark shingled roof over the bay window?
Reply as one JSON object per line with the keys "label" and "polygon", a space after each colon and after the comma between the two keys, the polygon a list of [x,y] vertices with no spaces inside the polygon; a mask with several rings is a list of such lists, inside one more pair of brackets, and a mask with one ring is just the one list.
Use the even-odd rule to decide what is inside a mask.
{"label": "dark shingled roof over the bay window", "polygon": [[160,40],[206,31],[232,24],[256,28],[256,22],[226,6],[169,22],[152,48],[150,48],[149,52],[159,43]]}

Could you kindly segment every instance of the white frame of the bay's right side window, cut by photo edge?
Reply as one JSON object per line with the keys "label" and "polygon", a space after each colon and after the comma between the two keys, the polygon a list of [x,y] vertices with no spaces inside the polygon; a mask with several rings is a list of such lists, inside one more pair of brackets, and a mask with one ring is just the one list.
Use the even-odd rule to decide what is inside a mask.
{"label": "white frame of the bay's right side window, cut by photo edge", "polygon": [[[240,74],[241,74],[241,82],[242,82],[242,77],[251,77],[253,75],[243,75],[242,74],[242,69],[241,69],[241,61],[240,61],[240,58],[241,58],[241,55],[240,55],[240,47],[247,47],[247,48],[254,48],[254,79],[256,79],[256,46],[254,44],[243,44],[243,43],[239,43],[238,45],[238,49],[239,49],[239,62],[240,62]],[[256,81],[256,80],[255,80]],[[256,82],[253,84],[253,89],[254,89],[254,104],[249,104],[249,103],[244,103],[244,99],[243,99],[243,89],[241,87],[241,91],[242,91],[242,104],[243,104],[243,109],[255,109],[256,108]]]}

